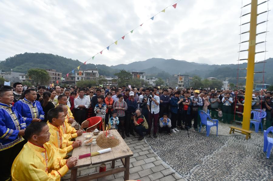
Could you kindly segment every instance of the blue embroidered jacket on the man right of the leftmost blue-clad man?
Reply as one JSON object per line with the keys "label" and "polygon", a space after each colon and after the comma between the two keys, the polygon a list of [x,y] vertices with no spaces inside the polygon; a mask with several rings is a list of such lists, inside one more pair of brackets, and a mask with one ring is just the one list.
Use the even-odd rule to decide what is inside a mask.
{"label": "blue embroidered jacket on the man right of the leftmost blue-clad man", "polygon": [[26,126],[28,126],[33,118],[38,118],[44,120],[45,113],[39,101],[34,101],[31,103],[27,99],[20,99],[15,102],[14,107],[22,115],[23,120],[25,121]]}

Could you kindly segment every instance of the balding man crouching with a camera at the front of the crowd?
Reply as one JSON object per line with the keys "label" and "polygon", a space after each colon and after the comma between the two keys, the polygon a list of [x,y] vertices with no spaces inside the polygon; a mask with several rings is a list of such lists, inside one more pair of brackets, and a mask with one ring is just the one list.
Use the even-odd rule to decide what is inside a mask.
{"label": "balding man crouching with a camera at the front of the crowd", "polygon": [[136,113],[133,116],[134,125],[133,128],[137,134],[139,134],[138,140],[141,141],[144,138],[143,132],[148,131],[148,123],[145,117],[141,114],[140,110],[136,110]]}

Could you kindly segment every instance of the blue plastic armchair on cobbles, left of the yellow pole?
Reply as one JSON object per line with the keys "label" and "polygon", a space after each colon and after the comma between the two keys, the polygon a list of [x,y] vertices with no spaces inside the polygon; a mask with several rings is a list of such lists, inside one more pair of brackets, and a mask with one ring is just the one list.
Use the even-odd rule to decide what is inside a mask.
{"label": "blue plastic armchair on cobbles, left of the yellow pole", "polygon": [[[199,132],[201,131],[202,124],[206,125],[206,131],[207,136],[209,136],[211,127],[216,126],[216,136],[218,136],[218,120],[217,119],[211,119],[210,115],[208,115],[206,112],[199,110],[199,115],[201,118],[201,124],[199,128]],[[212,121],[212,122],[211,122]]]}

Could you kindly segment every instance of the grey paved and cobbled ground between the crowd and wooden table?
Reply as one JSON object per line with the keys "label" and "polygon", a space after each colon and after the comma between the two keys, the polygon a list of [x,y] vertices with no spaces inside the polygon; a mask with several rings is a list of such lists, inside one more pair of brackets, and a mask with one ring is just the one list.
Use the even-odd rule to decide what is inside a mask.
{"label": "grey paved and cobbled ground between the crowd and wooden table", "polygon": [[[273,153],[266,158],[263,152],[263,134],[252,133],[251,139],[245,135],[229,134],[231,124],[219,123],[218,136],[216,127],[211,128],[206,137],[205,128],[201,133],[181,130],[172,136],[165,133],[157,138],[145,137],[138,141],[136,137],[126,137],[133,157],[130,158],[130,179],[141,181],[189,181],[189,180],[273,180]],[[240,125],[235,124],[240,127]],[[116,167],[121,166],[120,160]],[[111,169],[110,162],[106,169]],[[99,165],[78,169],[78,176],[99,171]],[[97,181],[121,181],[124,172]],[[69,173],[62,180],[68,181]]]}

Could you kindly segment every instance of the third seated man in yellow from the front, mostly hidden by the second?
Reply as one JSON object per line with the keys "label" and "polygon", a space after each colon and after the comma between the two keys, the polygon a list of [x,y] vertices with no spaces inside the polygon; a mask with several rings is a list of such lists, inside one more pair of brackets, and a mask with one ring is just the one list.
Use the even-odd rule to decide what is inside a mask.
{"label": "third seated man in yellow from the front, mostly hidden by the second", "polygon": [[64,114],[65,114],[65,121],[62,124],[62,126],[60,126],[62,128],[62,133],[63,133],[63,138],[65,140],[71,140],[72,138],[75,138],[77,136],[80,136],[83,134],[82,130],[76,130],[75,128],[71,127],[68,123],[68,110],[70,110],[69,108],[67,108],[67,105],[63,105],[63,104],[59,104],[56,106],[56,108],[60,108],[63,110]]}

